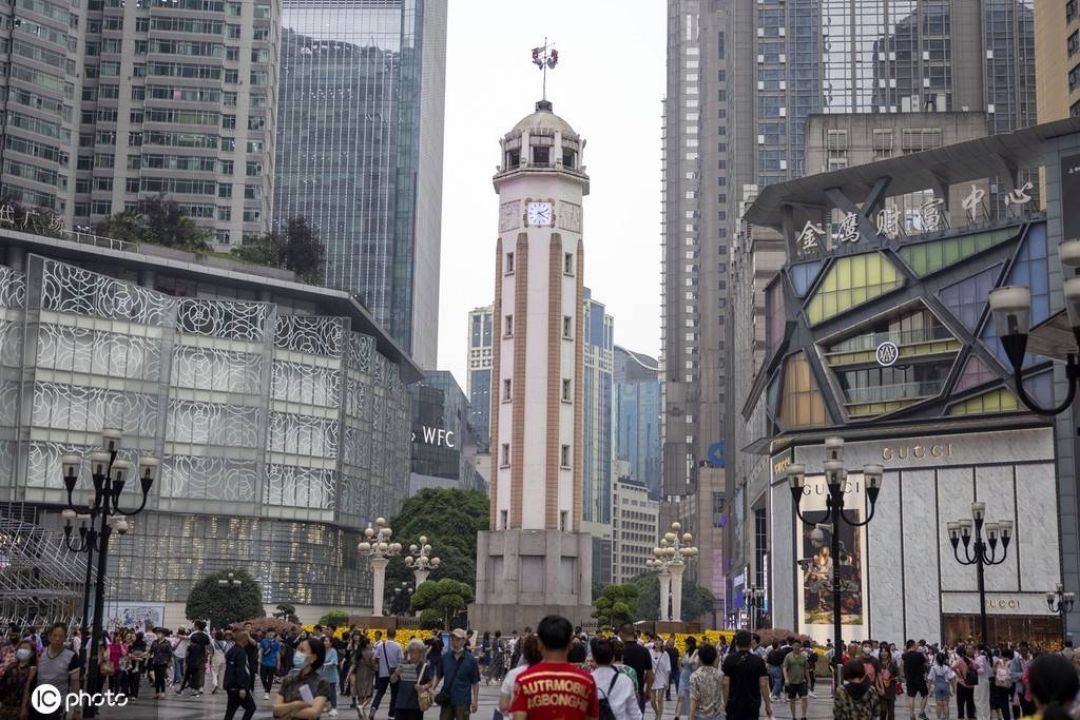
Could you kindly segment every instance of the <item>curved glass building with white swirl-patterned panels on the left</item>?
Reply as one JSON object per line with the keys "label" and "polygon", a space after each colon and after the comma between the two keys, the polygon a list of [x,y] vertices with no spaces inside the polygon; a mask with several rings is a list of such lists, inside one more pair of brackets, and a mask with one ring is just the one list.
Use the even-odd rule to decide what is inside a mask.
{"label": "curved glass building with white swirl-patterned panels on the left", "polygon": [[176,607],[242,568],[270,607],[367,604],[356,542],[404,497],[419,373],[363,309],[281,271],[11,235],[0,499],[58,527],[60,456],[119,427],[162,464],[110,557],[110,601]]}

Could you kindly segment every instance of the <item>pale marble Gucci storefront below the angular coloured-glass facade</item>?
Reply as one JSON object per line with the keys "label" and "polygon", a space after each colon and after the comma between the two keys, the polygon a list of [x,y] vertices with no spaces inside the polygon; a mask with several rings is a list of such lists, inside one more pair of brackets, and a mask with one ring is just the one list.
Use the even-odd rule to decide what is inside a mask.
{"label": "pale marble Gucci storefront below the angular coloured-glass facade", "polygon": [[[1061,581],[1052,438],[1050,429],[1028,429],[849,441],[846,466],[880,464],[886,472],[869,525],[840,528],[845,637],[900,643],[978,635],[975,571],[956,560],[945,530],[947,521],[970,517],[977,501],[988,520],[1015,528],[1004,562],[986,570],[991,637],[1059,639],[1061,623],[1043,599]],[[833,623],[831,529],[792,522],[786,461],[807,467],[801,507],[810,520],[825,521],[827,495],[814,472],[824,462],[821,445],[773,458],[781,470],[770,492],[773,623],[824,642]],[[846,489],[849,517],[865,519],[861,474],[849,473]]]}

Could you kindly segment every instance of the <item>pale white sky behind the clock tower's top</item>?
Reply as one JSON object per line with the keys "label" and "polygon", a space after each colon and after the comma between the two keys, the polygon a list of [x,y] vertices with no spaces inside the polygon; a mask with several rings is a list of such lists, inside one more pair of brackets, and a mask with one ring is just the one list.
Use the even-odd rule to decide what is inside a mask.
{"label": "pale white sky behind the clock tower's top", "polygon": [[548,99],[585,138],[585,286],[615,317],[615,341],[660,352],[660,159],[666,3],[450,0],[446,57],[438,368],[465,389],[469,311],[494,300],[499,139]]}

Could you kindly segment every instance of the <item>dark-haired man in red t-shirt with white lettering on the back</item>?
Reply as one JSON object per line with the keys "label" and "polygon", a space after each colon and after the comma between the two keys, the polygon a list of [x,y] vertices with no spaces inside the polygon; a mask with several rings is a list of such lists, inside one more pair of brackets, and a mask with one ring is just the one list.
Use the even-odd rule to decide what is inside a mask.
{"label": "dark-haired man in red t-shirt with white lettering on the back", "polygon": [[517,676],[513,720],[597,720],[596,683],[584,670],[566,662],[573,627],[570,621],[548,615],[537,626],[543,662]]}

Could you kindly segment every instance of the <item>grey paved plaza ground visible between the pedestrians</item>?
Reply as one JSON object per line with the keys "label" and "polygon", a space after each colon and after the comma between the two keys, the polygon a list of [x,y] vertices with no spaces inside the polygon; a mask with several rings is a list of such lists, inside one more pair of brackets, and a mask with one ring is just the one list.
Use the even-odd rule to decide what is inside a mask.
{"label": "grey paved plaza ground visible between the pedestrians", "polygon": [[[495,685],[481,685],[480,711],[474,716],[474,720],[491,720],[498,701],[498,693],[499,690]],[[270,701],[262,699],[262,693],[259,692],[255,695],[255,702],[258,706],[255,720],[269,720],[272,717]],[[662,720],[673,720],[673,709],[674,704],[669,705]],[[778,719],[788,719],[792,717],[787,710],[786,703],[778,704],[774,709]],[[189,697],[187,695],[179,697],[175,693],[170,692],[166,699],[159,702],[153,699],[151,693],[148,697],[139,698],[131,703],[127,707],[106,709],[98,717],[102,720],[220,720],[225,717],[225,696],[220,694],[207,694],[202,697]],[[237,718],[239,719],[240,717],[241,714],[238,712]],[[323,717],[328,718],[328,715],[324,715]],[[338,718],[341,720],[356,720],[356,711],[349,709],[349,702],[347,699],[338,710]],[[819,696],[818,699],[810,701],[808,720],[825,720],[832,717],[832,699]],[[437,708],[432,708],[424,716],[424,720],[436,720],[437,718]],[[647,709],[645,720],[654,720],[654,718],[652,709]],[[378,720],[387,720],[384,710],[379,712]]]}

